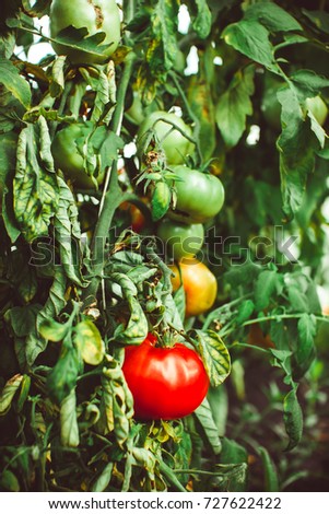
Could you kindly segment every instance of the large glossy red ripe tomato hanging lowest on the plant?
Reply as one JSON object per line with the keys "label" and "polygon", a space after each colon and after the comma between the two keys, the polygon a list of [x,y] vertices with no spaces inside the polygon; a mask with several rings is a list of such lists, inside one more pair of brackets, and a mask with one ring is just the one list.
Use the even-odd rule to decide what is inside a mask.
{"label": "large glossy red ripe tomato hanging lowest on the plant", "polygon": [[173,420],[193,412],[203,401],[209,378],[197,352],[176,342],[156,347],[149,335],[138,347],[126,347],[122,371],[140,419]]}

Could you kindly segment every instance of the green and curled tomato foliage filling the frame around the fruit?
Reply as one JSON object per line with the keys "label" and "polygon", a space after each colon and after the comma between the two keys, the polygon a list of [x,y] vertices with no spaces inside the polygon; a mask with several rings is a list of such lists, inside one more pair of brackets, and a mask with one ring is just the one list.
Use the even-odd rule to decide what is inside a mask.
{"label": "green and curled tomato foliage filling the frame around the fruit", "polygon": [[[0,21],[0,490],[308,487],[328,451],[324,2],[187,0],[181,34],[178,0],[124,0],[107,61],[104,33],[69,26],[51,40],[35,23],[50,0],[31,3],[3,2]],[[28,62],[36,39],[87,62]],[[167,124],[171,147],[185,142],[175,159],[225,189],[222,210],[197,225],[197,257],[219,285],[197,317],[186,318],[188,292],[173,296],[156,237],[178,201],[176,147],[163,144],[166,127],[140,140],[125,112],[136,94],[146,119],[181,110]],[[60,160],[54,141],[72,127]],[[125,202],[143,214],[139,233]],[[134,418],[124,347],[148,332],[203,361],[208,397],[181,420]]]}

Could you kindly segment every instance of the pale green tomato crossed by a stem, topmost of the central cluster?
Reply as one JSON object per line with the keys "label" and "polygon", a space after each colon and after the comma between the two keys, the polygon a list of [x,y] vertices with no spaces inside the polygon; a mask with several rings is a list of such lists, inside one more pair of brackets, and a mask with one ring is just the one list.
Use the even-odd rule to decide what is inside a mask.
{"label": "pale green tomato crossed by a stem, topmost of the central cluster", "polygon": [[142,122],[137,135],[139,155],[144,150],[148,133],[152,129],[165,152],[167,163],[184,164],[186,156],[193,151],[195,145],[179,130],[171,130],[173,124],[179,127],[187,136],[191,137],[191,128],[174,113],[155,110],[150,114]]}

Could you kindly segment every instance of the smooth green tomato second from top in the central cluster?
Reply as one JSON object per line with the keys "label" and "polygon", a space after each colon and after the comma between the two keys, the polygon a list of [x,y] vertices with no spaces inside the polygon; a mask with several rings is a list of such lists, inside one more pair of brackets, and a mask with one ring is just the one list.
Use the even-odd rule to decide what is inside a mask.
{"label": "smooth green tomato second from top in the central cluster", "polygon": [[220,212],[225,198],[220,178],[187,166],[172,170],[178,180],[175,182],[176,208],[168,212],[169,218],[184,223],[204,223]]}

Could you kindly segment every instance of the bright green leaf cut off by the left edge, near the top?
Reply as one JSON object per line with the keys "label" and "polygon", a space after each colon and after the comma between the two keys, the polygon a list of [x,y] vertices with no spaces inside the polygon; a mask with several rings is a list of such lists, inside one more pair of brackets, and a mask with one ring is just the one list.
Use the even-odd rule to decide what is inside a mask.
{"label": "bright green leaf cut off by the left edge, near the top", "polygon": [[24,107],[31,104],[31,89],[28,82],[20,75],[17,68],[8,59],[0,58],[0,83],[10,91]]}

